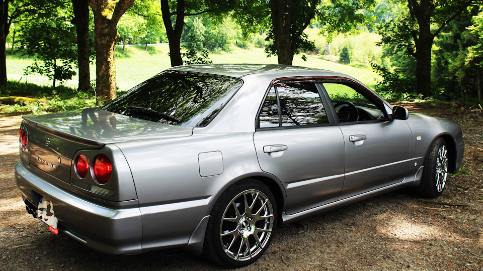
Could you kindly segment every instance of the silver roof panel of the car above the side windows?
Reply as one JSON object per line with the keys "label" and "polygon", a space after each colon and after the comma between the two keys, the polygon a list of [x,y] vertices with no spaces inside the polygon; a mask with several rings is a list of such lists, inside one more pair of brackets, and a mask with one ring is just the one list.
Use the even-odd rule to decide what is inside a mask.
{"label": "silver roof panel of the car above the side windows", "polygon": [[340,72],[276,64],[199,64],[176,66],[169,68],[168,70],[216,74],[237,78],[254,74],[273,75],[273,77],[277,78],[291,77],[294,76],[294,74],[303,74],[305,76],[342,76],[351,78],[349,75]]}

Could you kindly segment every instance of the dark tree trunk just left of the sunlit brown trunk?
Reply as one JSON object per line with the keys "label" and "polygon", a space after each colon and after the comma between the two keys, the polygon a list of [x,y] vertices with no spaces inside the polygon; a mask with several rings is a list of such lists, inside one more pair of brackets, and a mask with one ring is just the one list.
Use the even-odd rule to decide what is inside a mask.
{"label": "dark tree trunk just left of the sunlit brown trunk", "polygon": [[72,0],[74,24],[77,33],[77,61],[79,67],[79,91],[91,89],[89,69],[89,5],[84,0]]}

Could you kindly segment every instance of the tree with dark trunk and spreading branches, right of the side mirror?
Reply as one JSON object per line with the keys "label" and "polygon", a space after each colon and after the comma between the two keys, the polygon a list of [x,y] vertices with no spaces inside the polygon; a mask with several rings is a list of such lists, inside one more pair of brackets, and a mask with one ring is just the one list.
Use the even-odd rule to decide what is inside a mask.
{"label": "tree with dark trunk and spreading branches, right of the side mirror", "polygon": [[[406,2],[407,1],[407,2]],[[431,96],[431,50],[434,38],[469,6],[480,0],[403,0],[408,10],[380,29],[382,43],[404,49],[416,59],[417,92]]]}

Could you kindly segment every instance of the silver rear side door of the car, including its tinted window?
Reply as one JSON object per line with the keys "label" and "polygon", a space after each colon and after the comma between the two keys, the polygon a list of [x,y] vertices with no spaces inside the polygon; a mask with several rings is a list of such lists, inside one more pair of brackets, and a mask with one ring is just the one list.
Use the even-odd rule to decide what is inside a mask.
{"label": "silver rear side door of the car, including its tinted window", "polygon": [[254,144],[260,167],[287,195],[287,214],[334,202],[344,182],[344,139],[313,82],[272,86]]}

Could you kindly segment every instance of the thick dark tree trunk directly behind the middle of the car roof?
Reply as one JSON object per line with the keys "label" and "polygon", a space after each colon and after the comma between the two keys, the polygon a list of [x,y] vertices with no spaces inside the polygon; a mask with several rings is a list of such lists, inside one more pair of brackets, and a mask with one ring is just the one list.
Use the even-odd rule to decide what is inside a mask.
{"label": "thick dark tree trunk directly behind the middle of the car roof", "polygon": [[290,35],[291,0],[270,0],[274,45],[278,64],[292,65],[295,49]]}

